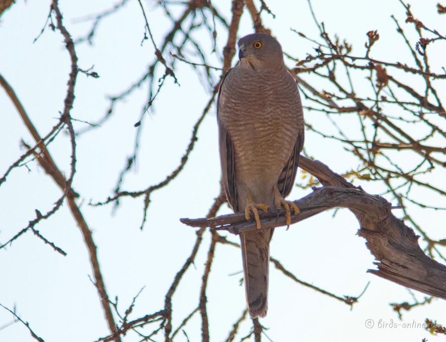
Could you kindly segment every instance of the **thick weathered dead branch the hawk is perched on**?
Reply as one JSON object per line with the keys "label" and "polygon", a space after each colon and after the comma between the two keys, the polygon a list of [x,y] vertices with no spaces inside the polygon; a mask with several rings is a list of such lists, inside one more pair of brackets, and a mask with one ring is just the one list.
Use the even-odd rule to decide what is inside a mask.
{"label": "thick weathered dead branch the hawk is perched on", "polygon": [[[366,246],[377,260],[378,270],[367,272],[446,300],[446,266],[424,254],[418,245],[418,236],[393,216],[387,200],[356,188],[319,161],[301,156],[299,166],[317,177],[324,186],[314,188],[313,193],[294,202],[301,212],[291,217],[292,223],[330,208],[349,208],[359,221],[358,235],[367,240]],[[285,226],[284,211],[278,216],[271,214],[261,215],[262,229]],[[224,229],[234,234],[256,230],[255,222],[247,222],[240,213],[213,219],[181,219],[181,222],[193,227]]]}

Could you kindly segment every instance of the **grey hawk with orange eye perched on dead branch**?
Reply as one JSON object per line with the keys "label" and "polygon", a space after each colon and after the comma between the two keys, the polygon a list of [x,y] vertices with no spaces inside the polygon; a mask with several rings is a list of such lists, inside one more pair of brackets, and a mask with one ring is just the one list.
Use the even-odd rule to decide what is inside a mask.
{"label": "grey hawk with orange eye perched on dead branch", "polygon": [[[238,41],[240,62],[220,86],[217,104],[223,187],[234,212],[284,207],[296,177],[304,142],[302,104],[297,84],[283,62],[279,42],[266,33]],[[240,234],[246,301],[251,316],[267,313],[270,240],[274,229]]]}

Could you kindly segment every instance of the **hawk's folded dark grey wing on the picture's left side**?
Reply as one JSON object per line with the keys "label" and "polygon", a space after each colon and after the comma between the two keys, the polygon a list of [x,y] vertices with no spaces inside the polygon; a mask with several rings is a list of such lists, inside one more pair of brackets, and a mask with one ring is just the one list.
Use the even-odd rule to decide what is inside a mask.
{"label": "hawk's folded dark grey wing on the picture's left side", "polygon": [[223,122],[219,119],[220,95],[222,93],[223,82],[231,70],[232,69],[229,69],[226,72],[222,83],[220,84],[219,95],[217,98],[217,122],[219,126],[219,148],[220,162],[222,165],[223,188],[226,193],[227,202],[234,212],[238,212],[237,189],[235,187],[234,149],[231,138],[227,134],[226,127],[224,127]]}

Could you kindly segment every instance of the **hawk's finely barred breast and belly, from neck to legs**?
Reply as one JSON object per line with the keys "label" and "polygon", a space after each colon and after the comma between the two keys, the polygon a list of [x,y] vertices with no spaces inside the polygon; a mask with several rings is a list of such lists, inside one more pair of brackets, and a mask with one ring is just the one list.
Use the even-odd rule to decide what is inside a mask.
{"label": "hawk's finely barred breast and belly, from neck to legs", "polygon": [[219,117],[233,143],[240,198],[246,198],[245,188],[255,202],[273,205],[272,187],[303,128],[300,106],[296,82],[284,67],[269,73],[235,67],[228,74]]}

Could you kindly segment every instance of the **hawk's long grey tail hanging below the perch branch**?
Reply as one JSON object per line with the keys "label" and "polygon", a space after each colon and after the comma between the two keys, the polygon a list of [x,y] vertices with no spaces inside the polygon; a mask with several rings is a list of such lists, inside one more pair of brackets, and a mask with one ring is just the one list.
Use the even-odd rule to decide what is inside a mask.
{"label": "hawk's long grey tail hanging below the perch branch", "polygon": [[270,241],[274,229],[240,234],[246,301],[252,318],[268,310]]}

